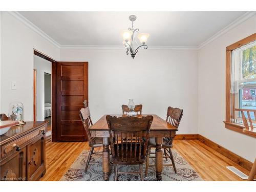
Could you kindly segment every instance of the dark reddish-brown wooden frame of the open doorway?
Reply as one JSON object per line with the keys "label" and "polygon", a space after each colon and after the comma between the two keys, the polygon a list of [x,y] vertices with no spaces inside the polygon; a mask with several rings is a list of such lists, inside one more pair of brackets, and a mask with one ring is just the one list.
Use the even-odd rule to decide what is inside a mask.
{"label": "dark reddish-brown wooden frame of the open doorway", "polygon": [[[44,53],[39,52],[38,50],[34,49],[34,55],[46,59],[52,62],[52,141],[57,141],[57,130],[56,130],[56,76],[57,76],[57,61],[53,58],[45,55]],[[34,96],[35,102],[35,96]],[[34,111],[35,114],[35,111]],[[35,119],[34,119],[35,120]]]}

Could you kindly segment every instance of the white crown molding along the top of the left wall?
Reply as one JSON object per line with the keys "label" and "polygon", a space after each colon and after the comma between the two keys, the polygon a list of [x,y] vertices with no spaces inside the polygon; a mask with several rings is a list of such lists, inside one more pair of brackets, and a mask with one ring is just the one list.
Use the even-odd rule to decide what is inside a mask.
{"label": "white crown molding along the top of the left wall", "polygon": [[38,33],[40,36],[44,37],[46,40],[51,42],[55,47],[60,49],[60,44],[55,41],[52,37],[47,35],[44,31],[39,29],[37,26],[35,26],[32,22],[30,22],[26,17],[24,17],[22,14],[18,13],[17,11],[9,11],[11,15],[13,15],[15,18],[20,20],[23,24],[25,24],[27,27],[32,29],[34,32]]}

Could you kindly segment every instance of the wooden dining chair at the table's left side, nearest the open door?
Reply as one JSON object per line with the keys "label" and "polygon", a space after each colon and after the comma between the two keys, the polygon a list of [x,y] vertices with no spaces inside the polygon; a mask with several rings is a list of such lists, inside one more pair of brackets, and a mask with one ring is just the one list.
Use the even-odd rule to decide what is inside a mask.
{"label": "wooden dining chair at the table's left side, nearest the open door", "polygon": [[91,147],[90,149],[90,152],[89,152],[89,156],[88,156],[88,159],[87,159],[87,162],[86,162],[86,172],[87,172],[87,169],[88,169],[88,166],[89,166],[89,162],[92,158],[92,156],[95,156],[95,155],[102,155],[102,152],[96,152],[94,153],[94,148],[95,147],[102,147],[103,144],[102,144],[102,138],[99,138],[99,137],[92,137],[91,136],[91,132],[89,130],[89,128],[93,125],[93,122],[91,120],[91,114],[90,114],[90,110],[89,110],[89,107],[87,108],[82,108],[80,110],[80,118],[82,120],[82,124],[83,124],[83,127],[84,127],[84,130],[86,130],[86,133],[87,133],[87,138],[88,138],[88,142],[89,142],[89,146]]}

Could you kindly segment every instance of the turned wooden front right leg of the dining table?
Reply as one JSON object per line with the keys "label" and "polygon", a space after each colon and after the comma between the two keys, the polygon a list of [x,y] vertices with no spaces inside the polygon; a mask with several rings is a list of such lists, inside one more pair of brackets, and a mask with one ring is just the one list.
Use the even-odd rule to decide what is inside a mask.
{"label": "turned wooden front right leg of the dining table", "polygon": [[163,152],[162,152],[163,138],[156,137],[156,177],[157,180],[162,180],[163,170]]}

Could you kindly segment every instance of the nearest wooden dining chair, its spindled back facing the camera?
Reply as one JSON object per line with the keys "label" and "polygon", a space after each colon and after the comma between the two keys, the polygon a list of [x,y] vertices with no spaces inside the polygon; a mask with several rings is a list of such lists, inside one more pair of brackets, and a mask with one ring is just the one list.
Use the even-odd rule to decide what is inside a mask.
{"label": "nearest wooden dining chair, its spindled back facing the camera", "polygon": [[[142,164],[146,159],[153,116],[117,118],[107,115],[106,121],[109,126],[112,161],[115,164],[115,181],[118,174],[140,174],[141,181],[144,181]],[[140,172],[118,172],[119,165],[139,165]]]}

